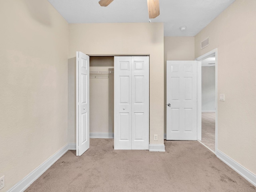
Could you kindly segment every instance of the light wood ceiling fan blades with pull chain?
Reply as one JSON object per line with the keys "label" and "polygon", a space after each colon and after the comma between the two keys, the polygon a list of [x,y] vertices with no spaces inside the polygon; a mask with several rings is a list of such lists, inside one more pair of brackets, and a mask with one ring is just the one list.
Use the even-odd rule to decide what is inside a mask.
{"label": "light wood ceiling fan blades with pull chain", "polygon": [[[100,6],[106,7],[108,6],[113,0],[100,0]],[[147,0],[148,1],[148,16],[149,22],[151,23],[150,19],[156,18],[160,15],[159,10],[159,0]]]}

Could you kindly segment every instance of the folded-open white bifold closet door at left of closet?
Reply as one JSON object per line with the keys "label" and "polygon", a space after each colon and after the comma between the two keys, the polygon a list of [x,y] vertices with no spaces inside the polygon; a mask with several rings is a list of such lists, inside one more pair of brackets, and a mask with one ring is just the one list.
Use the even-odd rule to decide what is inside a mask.
{"label": "folded-open white bifold closet door at left of closet", "polygon": [[76,52],[76,156],[90,146],[89,80],[90,57]]}

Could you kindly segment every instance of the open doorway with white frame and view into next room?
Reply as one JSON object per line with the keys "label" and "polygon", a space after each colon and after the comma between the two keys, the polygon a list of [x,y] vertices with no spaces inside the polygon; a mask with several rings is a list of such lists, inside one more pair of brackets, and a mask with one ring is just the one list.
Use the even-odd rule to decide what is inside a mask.
{"label": "open doorway with white frame and view into next room", "polygon": [[198,58],[198,141],[215,153],[217,124],[217,49]]}

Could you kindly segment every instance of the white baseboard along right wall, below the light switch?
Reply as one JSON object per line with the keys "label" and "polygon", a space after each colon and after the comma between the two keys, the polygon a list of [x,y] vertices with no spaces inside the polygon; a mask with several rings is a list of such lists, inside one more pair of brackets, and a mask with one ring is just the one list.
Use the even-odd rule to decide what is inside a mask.
{"label": "white baseboard along right wall, below the light switch", "polygon": [[216,151],[216,156],[228,166],[230,166],[232,169],[234,169],[236,172],[238,172],[238,174],[248,180],[248,182],[256,186],[256,175],[248,171],[246,168],[244,168],[219,150]]}

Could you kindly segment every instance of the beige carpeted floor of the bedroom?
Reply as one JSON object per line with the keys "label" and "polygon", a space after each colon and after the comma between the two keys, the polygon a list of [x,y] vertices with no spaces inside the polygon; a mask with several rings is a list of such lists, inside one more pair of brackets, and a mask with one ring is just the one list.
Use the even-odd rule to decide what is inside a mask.
{"label": "beige carpeted floor of the bedroom", "polygon": [[26,192],[255,192],[256,187],[197,141],[166,141],[166,152],[114,150],[90,139],[68,151]]}

